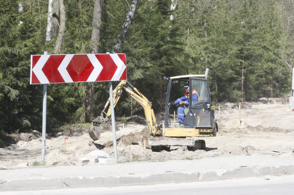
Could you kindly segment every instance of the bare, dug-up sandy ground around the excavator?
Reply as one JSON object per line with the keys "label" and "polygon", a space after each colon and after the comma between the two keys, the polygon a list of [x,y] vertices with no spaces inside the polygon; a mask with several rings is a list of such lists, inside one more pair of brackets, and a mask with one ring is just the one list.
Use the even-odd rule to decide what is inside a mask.
{"label": "bare, dug-up sandy ground around the excavator", "polygon": [[[148,134],[144,118],[117,124],[118,162],[166,161],[171,159],[200,159],[214,156],[251,155],[253,151],[271,151],[271,147],[294,149],[294,111],[289,111],[286,99],[272,99],[270,102],[244,102],[241,105],[241,126],[237,128],[238,105],[226,103],[215,110],[215,118],[221,124],[216,137],[200,138],[206,142],[205,150],[189,151],[184,146],[172,146],[169,151],[152,152],[144,139]],[[66,149],[64,155],[64,138]],[[114,158],[112,131],[101,134],[101,139],[93,142],[89,134],[46,139],[45,161],[48,166],[77,165],[78,159],[89,152],[102,150]],[[19,141],[0,149],[0,169],[33,166],[41,161],[41,138]],[[90,163],[88,163],[90,164]]]}

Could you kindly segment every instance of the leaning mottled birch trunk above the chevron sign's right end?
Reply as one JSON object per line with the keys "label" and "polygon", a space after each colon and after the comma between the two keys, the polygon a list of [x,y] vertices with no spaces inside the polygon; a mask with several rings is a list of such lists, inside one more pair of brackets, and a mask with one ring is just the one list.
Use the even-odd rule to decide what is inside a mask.
{"label": "leaning mottled birch trunk above the chevron sign's right end", "polygon": [[123,39],[124,39],[126,33],[128,32],[129,27],[131,26],[132,20],[134,19],[134,14],[135,14],[138,2],[139,2],[139,0],[132,1],[130,8],[129,8],[129,12],[127,13],[127,17],[124,20],[122,32],[119,35],[119,41],[115,44],[114,49],[112,50],[112,53],[116,53],[120,50],[121,45],[123,43]]}

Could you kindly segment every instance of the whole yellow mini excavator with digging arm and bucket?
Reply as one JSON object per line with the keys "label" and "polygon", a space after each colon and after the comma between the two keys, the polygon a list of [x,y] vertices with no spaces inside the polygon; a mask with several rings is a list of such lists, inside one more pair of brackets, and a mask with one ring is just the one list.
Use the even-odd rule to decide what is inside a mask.
{"label": "whole yellow mini excavator with digging arm and bucket", "polygon": [[[218,123],[214,117],[214,107],[211,105],[207,74],[208,71],[207,73],[205,72],[205,75],[164,77],[168,81],[168,86],[167,92],[164,94],[165,120],[162,124],[157,123],[151,102],[126,80],[121,81],[113,90],[114,106],[123,91],[142,106],[149,133],[154,137],[148,139],[148,144],[151,146],[152,151],[167,150],[170,146],[187,146],[190,150],[205,149],[205,141],[197,137],[216,136],[218,131]],[[170,107],[172,104],[169,102],[173,102],[173,100],[170,100],[170,96],[173,92],[178,92],[180,87],[183,89],[183,86],[187,83],[190,91],[197,91],[199,98],[196,101],[190,100],[190,104],[184,109],[184,124],[179,126],[170,120]],[[106,111],[107,108],[108,110]],[[92,121],[88,130],[90,137],[94,141],[100,139],[103,124],[109,120],[110,115],[111,110],[108,99],[101,115]]]}

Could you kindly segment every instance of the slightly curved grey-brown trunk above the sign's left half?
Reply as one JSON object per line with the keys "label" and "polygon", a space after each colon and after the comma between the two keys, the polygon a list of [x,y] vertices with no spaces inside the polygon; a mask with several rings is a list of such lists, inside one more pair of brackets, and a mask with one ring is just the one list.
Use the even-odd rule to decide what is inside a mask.
{"label": "slightly curved grey-brown trunk above the sign's left half", "polygon": [[59,53],[61,51],[61,45],[63,42],[63,36],[64,36],[65,24],[66,24],[65,6],[64,6],[63,0],[59,0],[59,7],[60,7],[60,27],[58,30],[58,37],[55,44],[56,53]]}

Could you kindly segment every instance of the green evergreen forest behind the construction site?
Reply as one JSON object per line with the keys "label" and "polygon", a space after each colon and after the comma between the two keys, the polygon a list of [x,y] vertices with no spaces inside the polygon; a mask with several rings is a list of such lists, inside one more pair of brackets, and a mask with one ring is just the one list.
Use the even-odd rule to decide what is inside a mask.
{"label": "green evergreen forest behind the construction site", "polygon": [[[214,104],[290,95],[294,0],[0,3],[2,139],[42,129],[43,85],[30,85],[30,66],[31,55],[44,51],[125,53],[127,79],[152,102],[155,113],[163,111],[163,76],[204,74],[206,68]],[[90,122],[109,98],[108,82],[48,84],[47,90],[49,131]],[[122,95],[115,115],[143,111]]]}

